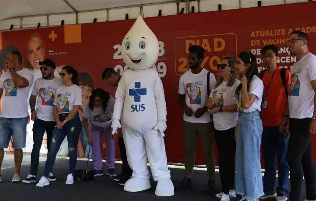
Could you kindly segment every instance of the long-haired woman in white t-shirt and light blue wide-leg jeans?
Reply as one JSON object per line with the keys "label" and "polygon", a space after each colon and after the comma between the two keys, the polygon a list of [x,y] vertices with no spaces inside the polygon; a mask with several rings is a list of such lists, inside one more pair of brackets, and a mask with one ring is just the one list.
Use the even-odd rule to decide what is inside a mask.
{"label": "long-haired woman in white t-shirt and light blue wide-leg jeans", "polygon": [[239,113],[235,131],[236,193],[243,195],[243,201],[256,201],[264,195],[260,163],[263,82],[258,77],[256,57],[251,53],[239,54],[236,70],[241,82],[235,92]]}

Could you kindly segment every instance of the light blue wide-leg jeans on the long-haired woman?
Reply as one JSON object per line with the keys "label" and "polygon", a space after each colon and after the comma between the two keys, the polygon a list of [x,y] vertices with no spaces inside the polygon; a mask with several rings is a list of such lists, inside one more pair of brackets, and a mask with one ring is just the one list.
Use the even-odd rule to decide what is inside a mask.
{"label": "light blue wide-leg jeans on the long-haired woman", "polygon": [[262,121],[258,111],[240,112],[238,118],[235,186],[248,200],[262,196],[260,144]]}

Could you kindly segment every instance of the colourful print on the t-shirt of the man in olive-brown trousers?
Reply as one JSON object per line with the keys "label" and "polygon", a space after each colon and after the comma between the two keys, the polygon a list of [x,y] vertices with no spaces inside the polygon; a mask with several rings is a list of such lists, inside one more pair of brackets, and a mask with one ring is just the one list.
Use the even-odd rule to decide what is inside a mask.
{"label": "colourful print on the t-shirt of the man in olive-brown trousers", "polygon": [[187,95],[189,97],[190,104],[202,104],[202,92],[200,86],[203,86],[202,81],[193,81],[186,84]]}

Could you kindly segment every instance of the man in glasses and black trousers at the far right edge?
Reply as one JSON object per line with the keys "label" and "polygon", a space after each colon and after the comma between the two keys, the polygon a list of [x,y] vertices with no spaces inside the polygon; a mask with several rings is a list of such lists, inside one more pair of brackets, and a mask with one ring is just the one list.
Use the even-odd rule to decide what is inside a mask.
{"label": "man in glasses and black trousers at the far right edge", "polygon": [[308,50],[309,39],[293,31],[287,45],[297,62],[291,68],[288,92],[289,130],[287,160],[291,176],[291,201],[300,201],[305,178],[306,199],[316,200],[316,173],[312,155],[311,134],[316,134],[316,56]]}

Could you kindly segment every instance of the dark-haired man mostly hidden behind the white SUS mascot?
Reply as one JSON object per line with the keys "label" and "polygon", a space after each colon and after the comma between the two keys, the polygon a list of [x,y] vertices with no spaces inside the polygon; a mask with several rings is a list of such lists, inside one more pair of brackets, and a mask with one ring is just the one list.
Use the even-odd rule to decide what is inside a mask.
{"label": "dark-haired man mostly hidden behind the white SUS mascot", "polygon": [[[102,80],[105,80],[110,86],[117,87],[121,77],[122,76],[118,75],[118,73],[112,68],[106,68],[102,73]],[[130,168],[127,161],[126,148],[121,129],[118,132],[118,136],[118,146],[123,164],[122,172],[118,176],[113,177],[113,180],[118,181],[119,185],[125,185],[125,182],[132,177],[133,170]]]}

